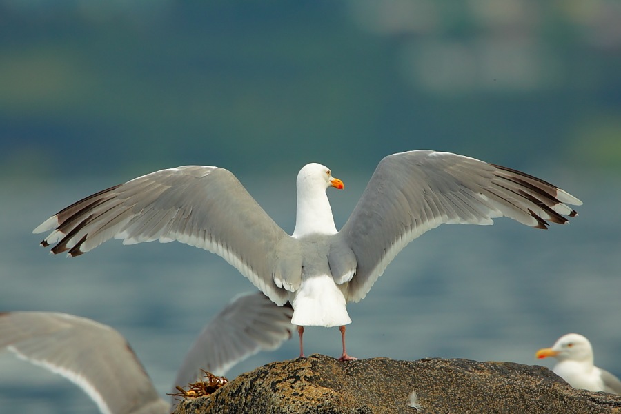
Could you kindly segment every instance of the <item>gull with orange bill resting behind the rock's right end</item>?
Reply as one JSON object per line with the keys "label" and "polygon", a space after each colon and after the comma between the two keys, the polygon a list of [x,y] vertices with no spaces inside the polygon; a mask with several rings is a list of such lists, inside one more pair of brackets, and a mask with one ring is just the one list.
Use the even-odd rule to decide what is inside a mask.
{"label": "gull with orange bill resting behind the rock's right end", "polygon": [[621,381],[608,371],[593,365],[591,342],[582,335],[563,335],[552,348],[540,349],[535,356],[540,359],[558,359],[552,371],[573,388],[621,394]]}

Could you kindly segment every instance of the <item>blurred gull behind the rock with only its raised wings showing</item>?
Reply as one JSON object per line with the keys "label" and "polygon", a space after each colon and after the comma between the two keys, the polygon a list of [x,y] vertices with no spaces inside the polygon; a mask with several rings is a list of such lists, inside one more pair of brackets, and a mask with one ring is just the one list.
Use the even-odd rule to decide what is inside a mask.
{"label": "blurred gull behind the rock with only its raised wings showing", "polygon": [[[292,313],[263,293],[240,295],[205,326],[174,384],[194,382],[201,369],[224,375],[242,359],[278,348],[293,331]],[[3,348],[68,378],[101,413],[170,413],[170,402],[159,397],[126,339],[110,326],[66,313],[0,313]]]}

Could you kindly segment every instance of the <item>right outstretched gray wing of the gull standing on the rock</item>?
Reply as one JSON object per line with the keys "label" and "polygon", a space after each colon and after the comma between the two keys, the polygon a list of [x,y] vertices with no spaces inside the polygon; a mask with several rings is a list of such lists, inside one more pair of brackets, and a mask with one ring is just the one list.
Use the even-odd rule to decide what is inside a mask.
{"label": "right outstretched gray wing of the gull standing on the rock", "polygon": [[[563,215],[577,215],[566,204],[582,202],[541,179],[470,157],[429,150],[389,155],[333,241],[355,255],[346,299],[364,298],[402,248],[440,224],[493,224],[504,216],[547,228],[546,221],[564,224]],[[331,259],[339,275],[354,262]]]}

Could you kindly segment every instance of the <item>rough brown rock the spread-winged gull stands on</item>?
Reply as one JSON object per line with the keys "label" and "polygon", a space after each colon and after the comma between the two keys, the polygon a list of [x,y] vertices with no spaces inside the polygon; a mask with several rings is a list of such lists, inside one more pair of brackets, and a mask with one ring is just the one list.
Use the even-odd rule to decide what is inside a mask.
{"label": "rough brown rock the spread-winged gull stands on", "polygon": [[239,375],[175,411],[204,413],[621,414],[621,396],[576,390],[536,365],[439,358],[339,362],[311,355]]}

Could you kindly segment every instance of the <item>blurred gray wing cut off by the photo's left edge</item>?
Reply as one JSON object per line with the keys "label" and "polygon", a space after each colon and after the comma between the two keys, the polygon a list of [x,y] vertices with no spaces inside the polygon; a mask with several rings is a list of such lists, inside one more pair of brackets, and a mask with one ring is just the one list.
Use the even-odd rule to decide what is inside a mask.
{"label": "blurred gray wing cut off by the photo's left edge", "polygon": [[0,350],[68,378],[102,413],[168,413],[124,337],[110,326],[65,313],[0,314]]}

